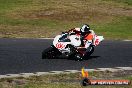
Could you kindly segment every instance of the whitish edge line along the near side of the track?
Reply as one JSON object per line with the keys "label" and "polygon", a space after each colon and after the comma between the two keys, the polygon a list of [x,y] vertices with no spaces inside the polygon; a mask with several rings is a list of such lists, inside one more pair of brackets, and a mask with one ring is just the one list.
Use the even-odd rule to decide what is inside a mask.
{"label": "whitish edge line along the near side of the track", "polygon": [[[89,72],[93,71],[125,71],[125,70],[132,70],[132,67],[114,67],[114,68],[96,68],[96,69],[85,69]],[[47,74],[60,74],[60,73],[78,73],[81,70],[64,70],[64,71],[50,71],[50,72],[35,72],[35,73],[20,73],[20,74],[6,74],[0,75],[1,78],[13,78],[13,77],[29,77],[29,76],[40,76],[40,75],[47,75]]]}

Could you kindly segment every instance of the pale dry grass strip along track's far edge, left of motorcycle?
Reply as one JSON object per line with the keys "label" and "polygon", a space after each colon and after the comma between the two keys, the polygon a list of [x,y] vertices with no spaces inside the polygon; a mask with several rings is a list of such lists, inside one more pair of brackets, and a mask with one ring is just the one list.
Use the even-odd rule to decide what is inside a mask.
{"label": "pale dry grass strip along track's far edge, left of motorcycle", "polygon": [[0,25],[0,37],[2,38],[43,38],[55,37],[60,30],[52,32],[54,29],[41,26],[6,26]]}

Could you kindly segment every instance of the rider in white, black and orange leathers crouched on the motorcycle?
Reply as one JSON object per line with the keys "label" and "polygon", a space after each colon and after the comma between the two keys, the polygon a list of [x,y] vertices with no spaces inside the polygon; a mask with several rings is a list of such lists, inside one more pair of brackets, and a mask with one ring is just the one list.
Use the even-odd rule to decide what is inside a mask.
{"label": "rider in white, black and orange leathers crouched on the motorcycle", "polygon": [[90,30],[89,25],[84,24],[81,28],[74,28],[69,30],[69,32],[74,32],[75,34],[80,35],[81,46],[88,48],[92,44],[92,40],[94,38],[94,31]]}

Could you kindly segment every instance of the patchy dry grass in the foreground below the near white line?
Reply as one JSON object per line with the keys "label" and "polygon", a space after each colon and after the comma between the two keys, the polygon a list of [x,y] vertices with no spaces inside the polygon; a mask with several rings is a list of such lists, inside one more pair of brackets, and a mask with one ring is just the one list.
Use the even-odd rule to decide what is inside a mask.
{"label": "patchy dry grass in the foreground below the near white line", "polygon": [[[121,72],[89,72],[91,79],[126,79],[132,81],[132,75]],[[124,72],[122,72],[124,73]],[[118,75],[118,76],[117,76]],[[28,78],[5,78],[0,80],[0,88],[82,88],[80,73],[31,76]],[[124,86],[87,86],[84,88],[131,88]]]}

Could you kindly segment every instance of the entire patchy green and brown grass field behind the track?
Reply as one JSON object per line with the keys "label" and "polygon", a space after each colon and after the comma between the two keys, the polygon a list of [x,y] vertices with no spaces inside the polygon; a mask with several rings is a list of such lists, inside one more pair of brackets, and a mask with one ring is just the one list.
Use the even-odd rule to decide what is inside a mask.
{"label": "entire patchy green and brown grass field behind the track", "polygon": [[87,23],[105,39],[132,39],[131,2],[0,0],[0,38],[55,37]]}

